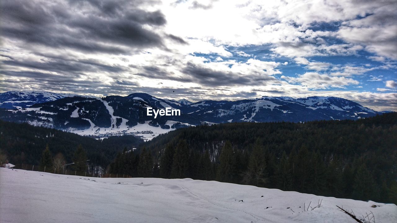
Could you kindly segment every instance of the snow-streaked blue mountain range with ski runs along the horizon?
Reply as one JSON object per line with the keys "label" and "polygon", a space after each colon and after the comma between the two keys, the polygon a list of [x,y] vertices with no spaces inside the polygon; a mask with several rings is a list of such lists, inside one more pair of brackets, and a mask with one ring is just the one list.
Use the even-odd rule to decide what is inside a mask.
{"label": "snow-streaked blue mountain range with ski runs along the horizon", "polygon": [[[306,122],[371,117],[382,112],[336,97],[270,97],[237,101],[156,98],[145,93],[95,98],[45,91],[0,94],[0,119],[27,122],[77,133],[107,137],[142,135],[150,139],[172,129],[230,122]],[[180,116],[146,115],[146,107],[174,108]]]}

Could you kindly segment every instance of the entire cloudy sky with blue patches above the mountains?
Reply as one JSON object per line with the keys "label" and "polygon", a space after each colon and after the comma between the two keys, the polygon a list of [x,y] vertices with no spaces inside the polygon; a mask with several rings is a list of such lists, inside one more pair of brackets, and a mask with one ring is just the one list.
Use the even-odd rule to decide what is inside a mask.
{"label": "entire cloudy sky with blue patches above the mountains", "polygon": [[397,110],[395,0],[2,0],[0,92]]}

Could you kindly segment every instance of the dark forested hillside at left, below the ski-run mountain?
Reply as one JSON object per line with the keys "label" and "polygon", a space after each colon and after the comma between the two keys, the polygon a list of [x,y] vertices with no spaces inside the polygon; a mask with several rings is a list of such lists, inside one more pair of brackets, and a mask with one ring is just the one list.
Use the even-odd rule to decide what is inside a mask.
{"label": "dark forested hillside at left, below the ski-run mountain", "polygon": [[143,142],[135,136],[112,136],[102,141],[56,129],[32,126],[27,123],[12,123],[0,120],[0,150],[15,165],[39,164],[46,145],[52,155],[62,153],[71,162],[73,153],[81,144],[91,163],[104,168],[123,148],[135,148]]}

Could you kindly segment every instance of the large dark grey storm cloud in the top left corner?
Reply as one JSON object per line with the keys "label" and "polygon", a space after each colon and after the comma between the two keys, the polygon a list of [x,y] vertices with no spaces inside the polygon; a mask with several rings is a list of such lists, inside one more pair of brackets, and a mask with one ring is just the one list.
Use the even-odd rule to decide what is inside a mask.
{"label": "large dark grey storm cloud in the top left corner", "polygon": [[[114,54],[128,53],[128,48],[162,47],[162,37],[143,25],[164,25],[164,14],[146,12],[136,6],[136,2],[130,1],[49,4],[39,0],[4,0],[1,35],[53,48]],[[89,13],[75,13],[79,10]]]}

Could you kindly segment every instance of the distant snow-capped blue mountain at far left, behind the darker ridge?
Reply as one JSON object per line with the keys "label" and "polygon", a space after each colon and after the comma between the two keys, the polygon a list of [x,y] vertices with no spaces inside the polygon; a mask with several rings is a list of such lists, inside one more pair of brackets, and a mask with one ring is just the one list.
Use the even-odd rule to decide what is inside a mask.
{"label": "distant snow-capped blue mountain at far left, behind the darker ridge", "polygon": [[48,91],[8,91],[0,94],[0,108],[27,108],[33,104],[44,103],[73,96],[81,95],[58,94]]}

